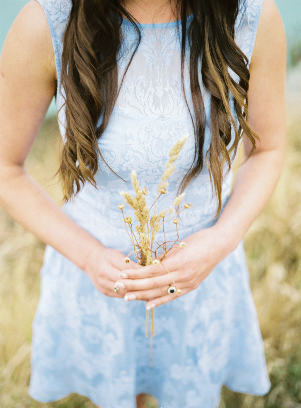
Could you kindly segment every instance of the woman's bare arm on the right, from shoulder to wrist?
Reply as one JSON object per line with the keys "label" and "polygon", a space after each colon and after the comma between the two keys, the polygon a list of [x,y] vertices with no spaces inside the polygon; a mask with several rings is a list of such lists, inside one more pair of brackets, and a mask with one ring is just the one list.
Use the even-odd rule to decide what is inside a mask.
{"label": "woman's bare arm on the right, from shoulder to wrist", "polygon": [[[217,227],[234,249],[270,199],[285,153],[286,38],[274,0],[264,0],[250,63],[249,122],[259,135],[256,152],[240,167]],[[246,157],[250,142],[244,141]]]}

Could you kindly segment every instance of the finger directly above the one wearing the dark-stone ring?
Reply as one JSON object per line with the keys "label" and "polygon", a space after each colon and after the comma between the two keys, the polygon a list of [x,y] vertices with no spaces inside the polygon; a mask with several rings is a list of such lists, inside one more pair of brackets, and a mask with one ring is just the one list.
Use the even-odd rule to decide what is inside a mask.
{"label": "finger directly above the one wearing the dark-stone ring", "polygon": [[[171,273],[175,282],[180,282],[181,273],[175,271]],[[157,276],[154,278],[145,278],[145,279],[118,279],[116,286],[121,289],[127,290],[146,290],[146,289],[157,289],[161,286],[168,286],[173,284],[173,280],[169,273],[165,275]]]}

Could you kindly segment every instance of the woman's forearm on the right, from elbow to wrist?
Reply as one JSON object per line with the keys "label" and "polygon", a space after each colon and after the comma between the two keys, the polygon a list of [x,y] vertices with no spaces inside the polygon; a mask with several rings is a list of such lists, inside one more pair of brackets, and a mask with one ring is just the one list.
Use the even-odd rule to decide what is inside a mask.
{"label": "woman's forearm on the right, from elbow to wrist", "polygon": [[231,197],[213,227],[230,253],[270,199],[279,179],[284,148],[259,151],[240,167]]}

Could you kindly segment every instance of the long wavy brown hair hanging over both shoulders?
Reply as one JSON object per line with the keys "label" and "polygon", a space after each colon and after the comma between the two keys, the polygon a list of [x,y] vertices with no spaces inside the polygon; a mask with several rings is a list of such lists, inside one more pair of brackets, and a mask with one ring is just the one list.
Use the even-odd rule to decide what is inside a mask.
{"label": "long wavy brown hair hanging over both shoulders", "polygon": [[[182,88],[184,63],[189,47],[189,74],[194,115],[195,155],[191,168],[180,185],[183,191],[198,176],[204,165],[209,168],[213,191],[222,207],[224,167],[230,169],[231,153],[235,153],[242,134],[255,149],[257,135],[248,124],[248,60],[234,40],[239,0],[177,0],[180,17]],[[193,18],[187,24],[187,16]],[[72,9],[64,34],[61,84],[66,93],[66,143],[62,151],[59,175],[65,200],[78,193],[85,182],[96,186],[98,140],[105,131],[114,104],[118,84],[118,58],[121,49],[122,19],[132,22],[137,32],[136,49],[141,40],[139,25],[123,7],[121,0],[72,0]],[[132,58],[134,53],[132,54]],[[130,65],[132,58],[128,65]],[[205,113],[199,82],[211,94],[211,144],[203,157]],[[238,76],[236,82],[229,68]],[[237,126],[229,104],[234,97]],[[97,128],[99,117],[101,126]],[[231,129],[235,139],[231,142]],[[233,152],[234,151],[234,152]]]}

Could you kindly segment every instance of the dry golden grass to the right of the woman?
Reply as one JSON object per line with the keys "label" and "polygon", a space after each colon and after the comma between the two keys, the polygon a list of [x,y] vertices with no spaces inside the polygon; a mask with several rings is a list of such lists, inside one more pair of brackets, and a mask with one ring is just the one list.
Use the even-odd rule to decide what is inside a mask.
{"label": "dry golden grass to the right of the woman", "polygon": [[301,408],[301,64],[288,75],[286,160],[275,193],[244,239],[272,387],[224,388],[220,408]]}

